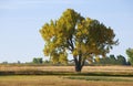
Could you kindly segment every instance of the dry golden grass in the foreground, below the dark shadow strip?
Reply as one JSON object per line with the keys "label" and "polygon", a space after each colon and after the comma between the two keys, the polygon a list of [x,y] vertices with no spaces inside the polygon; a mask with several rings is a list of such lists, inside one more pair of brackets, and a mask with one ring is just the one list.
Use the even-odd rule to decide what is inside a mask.
{"label": "dry golden grass in the foreground, below the dark shadow strip", "polygon": [[1,76],[0,86],[133,86],[133,82],[94,82],[61,76]]}

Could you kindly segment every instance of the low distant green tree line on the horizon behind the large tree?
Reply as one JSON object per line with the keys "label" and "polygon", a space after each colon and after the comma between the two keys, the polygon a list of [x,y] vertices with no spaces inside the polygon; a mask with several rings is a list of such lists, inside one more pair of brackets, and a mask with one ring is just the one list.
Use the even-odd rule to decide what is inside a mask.
{"label": "low distant green tree line on the horizon behind the large tree", "polygon": [[[66,64],[62,63],[52,63],[51,61],[43,61],[42,57],[33,57],[32,62],[21,63],[18,61],[17,63],[8,63],[3,62],[1,64],[31,64],[31,65],[74,65],[73,61],[69,61]],[[85,62],[85,65],[130,65],[130,62],[126,62],[125,57],[122,55],[110,55],[108,57],[93,57],[93,62]]]}

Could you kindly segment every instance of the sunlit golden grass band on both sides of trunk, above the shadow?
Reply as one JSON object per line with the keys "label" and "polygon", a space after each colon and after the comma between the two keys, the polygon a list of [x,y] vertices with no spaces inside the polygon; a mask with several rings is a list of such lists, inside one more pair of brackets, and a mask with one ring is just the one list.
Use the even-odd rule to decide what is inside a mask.
{"label": "sunlit golden grass band on both sides of trunk, above the shadow", "polygon": [[[0,65],[0,71],[74,72],[74,66]],[[82,72],[133,72],[133,66],[84,66]]]}

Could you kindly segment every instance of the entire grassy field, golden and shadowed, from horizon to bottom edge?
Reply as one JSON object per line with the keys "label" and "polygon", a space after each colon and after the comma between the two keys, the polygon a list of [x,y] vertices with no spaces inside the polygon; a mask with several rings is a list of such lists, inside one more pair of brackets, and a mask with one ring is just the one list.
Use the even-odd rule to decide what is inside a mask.
{"label": "entire grassy field, golden and shadowed, from horizon to bottom edge", "polygon": [[73,66],[0,65],[6,72],[18,74],[0,74],[0,86],[133,86],[131,66],[84,66],[79,74]]}

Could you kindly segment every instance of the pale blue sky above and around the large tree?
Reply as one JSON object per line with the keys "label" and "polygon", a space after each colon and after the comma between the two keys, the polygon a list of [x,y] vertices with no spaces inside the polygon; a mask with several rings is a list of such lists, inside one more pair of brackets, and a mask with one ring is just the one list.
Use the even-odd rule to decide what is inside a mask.
{"label": "pale blue sky above and around the large tree", "polygon": [[120,45],[111,54],[133,47],[133,0],[0,0],[0,62],[44,57],[39,30],[68,8],[114,30]]}

